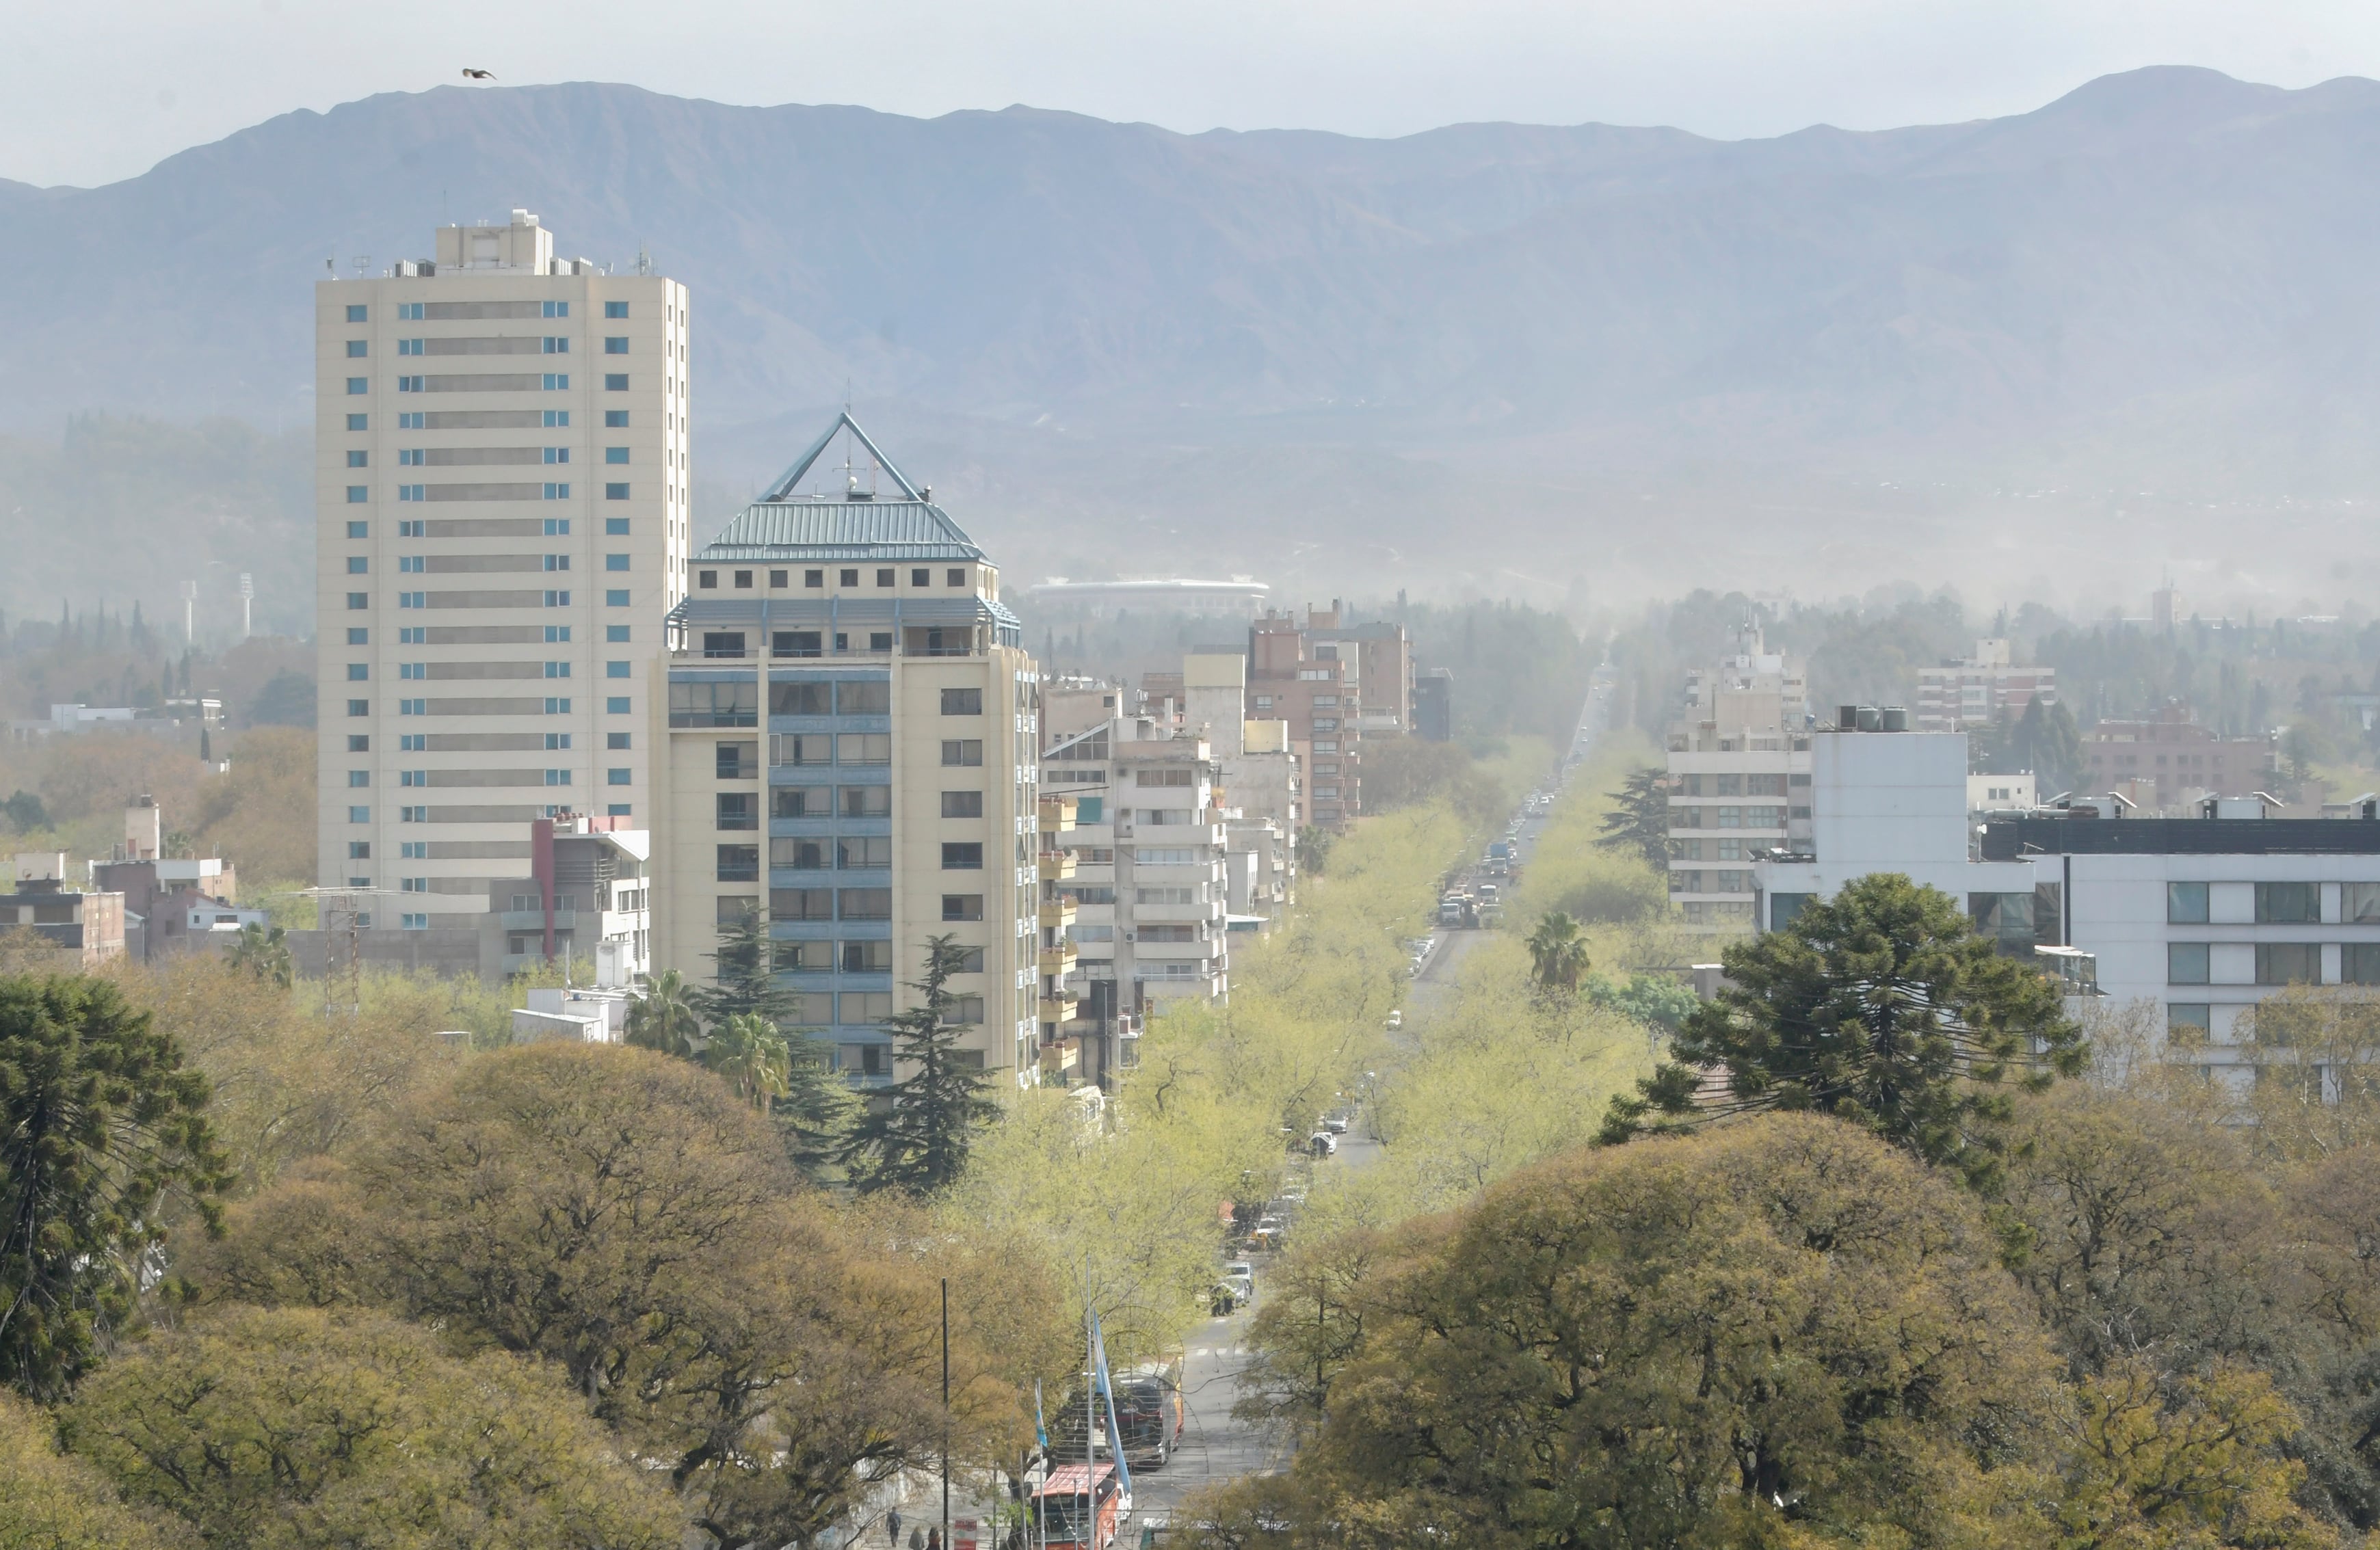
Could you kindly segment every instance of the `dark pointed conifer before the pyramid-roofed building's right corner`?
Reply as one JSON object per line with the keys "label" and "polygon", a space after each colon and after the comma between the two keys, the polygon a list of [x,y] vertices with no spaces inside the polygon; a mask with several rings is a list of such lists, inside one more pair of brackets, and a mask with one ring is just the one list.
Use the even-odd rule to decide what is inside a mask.
{"label": "dark pointed conifer before the pyramid-roofed building's right corner", "polygon": [[923,1000],[890,1021],[892,1057],[907,1076],[871,1107],[845,1145],[843,1160],[862,1190],[928,1195],[966,1167],[976,1131],[1000,1114],[978,1060],[964,1060],[950,1024],[950,976],[964,955],[952,936],[926,938],[926,979],[909,981]]}

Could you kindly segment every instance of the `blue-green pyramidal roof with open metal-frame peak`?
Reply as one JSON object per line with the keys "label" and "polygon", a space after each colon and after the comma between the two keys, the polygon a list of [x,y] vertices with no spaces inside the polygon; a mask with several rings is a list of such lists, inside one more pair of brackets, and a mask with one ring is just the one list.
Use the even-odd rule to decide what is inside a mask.
{"label": "blue-green pyramidal roof with open metal-frame peak", "polygon": [[[800,483],[812,464],[845,431],[866,448],[892,488],[864,490],[852,474],[845,488],[802,495]],[[966,529],[928,495],[931,486],[909,483],[845,410],[790,469],[769,481],[766,495],[738,512],[702,548],[697,560],[983,560]]]}

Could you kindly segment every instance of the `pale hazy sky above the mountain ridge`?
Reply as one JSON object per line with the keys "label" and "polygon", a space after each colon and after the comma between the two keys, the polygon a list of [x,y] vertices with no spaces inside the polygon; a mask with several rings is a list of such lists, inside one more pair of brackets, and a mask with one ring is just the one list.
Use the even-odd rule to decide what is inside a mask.
{"label": "pale hazy sky above the mountain ridge", "polygon": [[105,183],[298,107],[633,81],[904,114],[1066,107],[1392,136],[1464,119],[1766,136],[2023,112],[2140,64],[2380,76],[2370,0],[19,0],[0,176]]}

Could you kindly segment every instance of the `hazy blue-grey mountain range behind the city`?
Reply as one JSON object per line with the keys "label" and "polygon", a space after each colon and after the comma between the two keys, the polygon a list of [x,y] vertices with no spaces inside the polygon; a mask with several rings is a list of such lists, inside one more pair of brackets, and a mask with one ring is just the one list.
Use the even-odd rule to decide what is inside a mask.
{"label": "hazy blue-grey mountain range behind the city", "polygon": [[528,207],[690,286],[721,519],[850,400],[1033,571],[2337,590],[2380,579],[2335,543],[2380,493],[2375,150],[2380,83],[2202,69],[1771,140],[438,88],[0,181],[0,429],[298,429],[317,279]]}

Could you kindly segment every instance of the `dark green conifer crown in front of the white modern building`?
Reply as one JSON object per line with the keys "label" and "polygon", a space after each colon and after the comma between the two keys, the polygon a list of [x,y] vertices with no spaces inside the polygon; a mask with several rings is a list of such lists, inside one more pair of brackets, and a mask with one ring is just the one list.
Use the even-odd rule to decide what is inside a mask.
{"label": "dark green conifer crown in front of the white modern building", "polygon": [[2056,983],[2002,957],[1959,905],[1880,871],[1783,931],[1726,948],[1730,988],[1695,1010],[1673,1060],[1614,1098],[1606,1143],[1761,1110],[1849,1119],[1990,1188],[2011,1090],[2082,1071]]}

